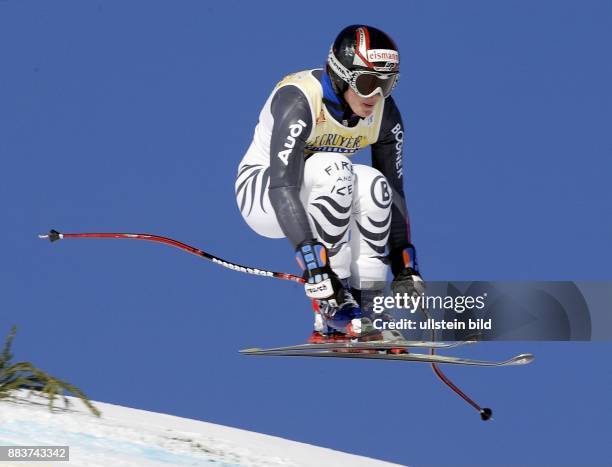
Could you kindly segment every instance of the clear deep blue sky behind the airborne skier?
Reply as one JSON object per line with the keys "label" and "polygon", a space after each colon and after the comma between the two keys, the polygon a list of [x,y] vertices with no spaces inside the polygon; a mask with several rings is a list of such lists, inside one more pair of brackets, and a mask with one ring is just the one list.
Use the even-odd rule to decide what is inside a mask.
{"label": "clear deep blue sky behind the airborne skier", "polygon": [[[612,4],[0,1],[0,332],[92,398],[424,465],[610,461],[609,343],[482,344],[525,368],[254,359],[300,342],[298,285],[146,242],[297,272],[233,194],[260,108],[369,23],[402,56],[406,192],[425,278],[609,279]],[[367,161],[367,155],[357,156]]]}

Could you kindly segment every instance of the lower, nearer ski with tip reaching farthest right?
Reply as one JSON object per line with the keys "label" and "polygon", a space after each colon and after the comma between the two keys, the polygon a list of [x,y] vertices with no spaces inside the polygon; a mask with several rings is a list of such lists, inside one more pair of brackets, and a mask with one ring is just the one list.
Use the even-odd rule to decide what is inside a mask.
{"label": "lower, nearer ski with tip reaching farthest right", "polygon": [[469,365],[469,366],[516,366],[526,365],[534,359],[532,354],[516,355],[508,360],[490,361],[476,360],[472,358],[451,357],[448,355],[429,355],[421,353],[408,354],[388,354],[388,353],[352,353],[352,352],[337,352],[337,351],[299,351],[299,350],[272,350],[272,349],[244,349],[240,351],[243,355],[259,355],[259,356],[275,356],[275,357],[331,357],[331,358],[362,358],[372,360],[395,360],[403,362],[421,362],[421,363],[443,363],[451,365]]}

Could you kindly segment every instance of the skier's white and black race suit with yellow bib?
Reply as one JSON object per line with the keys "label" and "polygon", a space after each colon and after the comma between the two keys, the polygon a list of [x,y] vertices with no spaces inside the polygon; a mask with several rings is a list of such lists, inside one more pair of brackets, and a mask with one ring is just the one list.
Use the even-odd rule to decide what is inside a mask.
{"label": "skier's white and black race suit with yellow bib", "polygon": [[[291,74],[266,101],[242,159],[236,197],[258,234],[294,247],[316,238],[356,288],[384,282],[385,254],[410,241],[402,119],[391,97],[359,118],[320,69]],[[350,156],[372,148],[372,166]]]}

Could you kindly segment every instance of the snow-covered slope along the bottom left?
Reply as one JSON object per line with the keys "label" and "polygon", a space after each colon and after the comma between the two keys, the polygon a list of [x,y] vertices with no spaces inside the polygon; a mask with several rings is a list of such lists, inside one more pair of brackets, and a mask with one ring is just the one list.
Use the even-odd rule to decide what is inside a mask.
{"label": "snow-covered slope along the bottom left", "polygon": [[[54,466],[392,466],[388,462],[187,418],[81,401],[49,412],[46,400],[27,392],[0,401],[0,445],[68,445],[69,462]],[[58,407],[62,407],[58,401]],[[41,467],[45,462],[2,462]]]}

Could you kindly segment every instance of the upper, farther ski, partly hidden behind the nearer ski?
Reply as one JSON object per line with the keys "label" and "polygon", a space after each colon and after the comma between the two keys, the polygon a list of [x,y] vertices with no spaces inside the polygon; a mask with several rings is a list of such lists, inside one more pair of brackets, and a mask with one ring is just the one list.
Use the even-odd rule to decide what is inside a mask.
{"label": "upper, farther ski, partly hidden behind the nearer ski", "polygon": [[451,349],[465,344],[475,344],[476,341],[457,341],[457,342],[428,342],[428,341],[365,341],[365,342],[323,342],[321,344],[298,344],[288,345],[285,347],[273,347],[269,349],[244,349],[243,352],[258,351],[258,353],[266,352],[289,352],[302,350],[391,350],[391,349],[409,349],[409,348],[426,348],[426,349]]}

